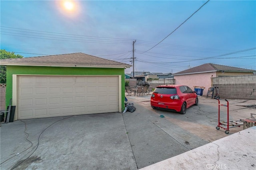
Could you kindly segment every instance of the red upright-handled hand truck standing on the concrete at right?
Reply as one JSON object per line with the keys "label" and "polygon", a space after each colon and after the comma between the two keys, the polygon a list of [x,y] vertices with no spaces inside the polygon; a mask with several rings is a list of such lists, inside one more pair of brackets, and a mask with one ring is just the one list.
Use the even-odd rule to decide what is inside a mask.
{"label": "red upright-handled hand truck standing on the concrete at right", "polygon": [[[220,130],[220,128],[223,128],[223,129],[226,130],[225,133],[228,134],[229,133],[229,128],[240,127],[241,125],[243,125],[242,121],[229,121],[229,103],[228,103],[227,99],[225,99],[225,101],[227,102],[226,105],[220,104],[220,100],[217,99],[216,97],[214,97],[214,99],[218,100],[218,108],[219,108],[219,111],[218,111],[218,125],[216,127],[217,130]],[[228,115],[227,121],[220,121],[220,106],[227,107],[227,110],[228,110],[227,111],[227,115]],[[225,126],[227,128],[225,128]]]}

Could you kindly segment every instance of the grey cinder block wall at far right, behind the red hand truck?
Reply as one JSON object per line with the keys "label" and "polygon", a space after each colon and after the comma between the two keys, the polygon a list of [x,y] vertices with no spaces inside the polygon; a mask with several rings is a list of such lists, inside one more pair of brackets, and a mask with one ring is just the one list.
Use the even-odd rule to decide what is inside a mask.
{"label": "grey cinder block wall at far right, behind the red hand truck", "polygon": [[256,99],[256,75],[213,77],[222,99]]}

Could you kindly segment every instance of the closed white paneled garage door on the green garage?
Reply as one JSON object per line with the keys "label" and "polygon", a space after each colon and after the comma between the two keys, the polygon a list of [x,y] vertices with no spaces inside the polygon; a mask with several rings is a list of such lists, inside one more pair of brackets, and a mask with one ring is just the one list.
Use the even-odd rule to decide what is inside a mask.
{"label": "closed white paneled garage door on the green garage", "polygon": [[118,76],[18,76],[18,119],[119,111]]}

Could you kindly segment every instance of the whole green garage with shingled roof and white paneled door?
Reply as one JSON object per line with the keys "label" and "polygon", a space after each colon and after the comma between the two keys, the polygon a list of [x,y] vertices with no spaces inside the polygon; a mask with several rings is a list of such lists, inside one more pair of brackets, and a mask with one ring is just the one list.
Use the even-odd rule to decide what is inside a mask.
{"label": "whole green garage with shingled roof and white paneled door", "polygon": [[122,112],[124,69],[84,53],[3,59],[14,120]]}

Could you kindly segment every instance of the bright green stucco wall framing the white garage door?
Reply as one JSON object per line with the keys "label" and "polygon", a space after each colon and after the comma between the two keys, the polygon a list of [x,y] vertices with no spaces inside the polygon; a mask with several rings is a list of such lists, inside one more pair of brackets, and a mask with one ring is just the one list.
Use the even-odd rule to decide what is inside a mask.
{"label": "bright green stucco wall framing the white garage door", "polygon": [[124,110],[124,69],[119,68],[82,68],[82,67],[36,67],[36,66],[14,66],[6,67],[6,105],[12,98],[12,75],[121,75],[122,87],[122,110]]}

